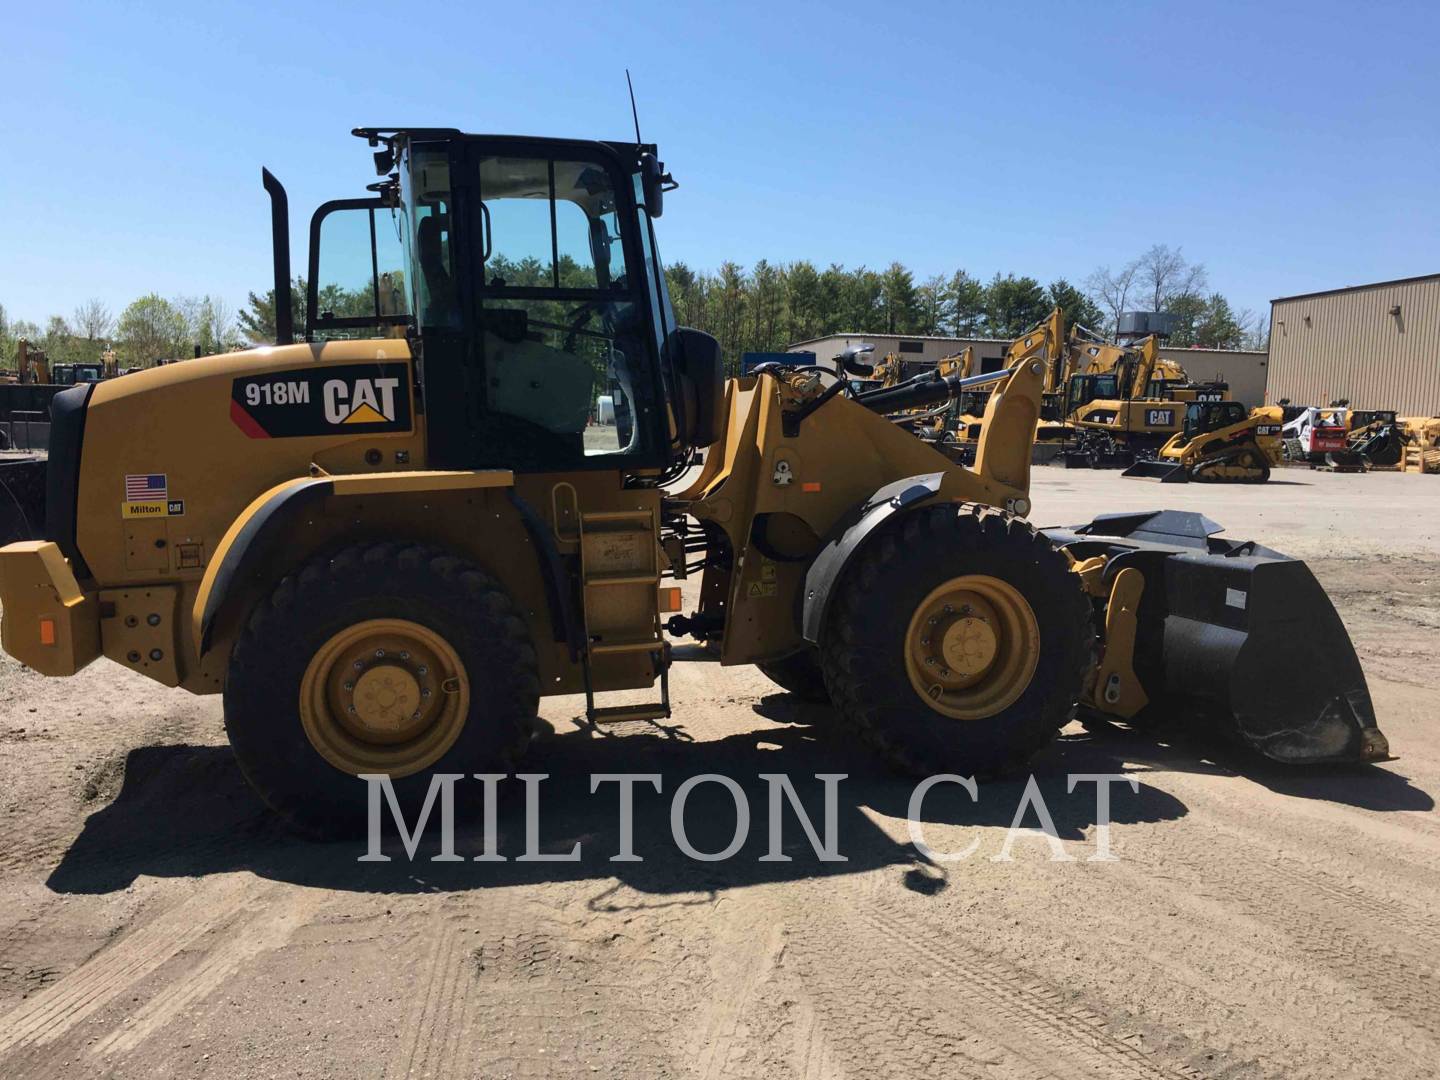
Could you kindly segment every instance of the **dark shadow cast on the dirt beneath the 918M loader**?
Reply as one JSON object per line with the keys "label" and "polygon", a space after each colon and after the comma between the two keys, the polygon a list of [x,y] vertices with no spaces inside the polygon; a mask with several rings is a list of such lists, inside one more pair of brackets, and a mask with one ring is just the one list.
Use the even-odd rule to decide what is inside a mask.
{"label": "dark shadow cast on the dirt beneath the 918M loader", "polygon": [[[779,704],[778,704],[779,701]],[[789,698],[766,698],[768,710],[783,711]],[[360,863],[363,840],[317,844],[288,834],[246,786],[229,747],[153,746],[132,750],[115,799],[95,811],[52,871],[48,886],[58,893],[111,893],[138,876],[203,877],[249,870],[261,877],[348,891],[422,893],[488,888],[540,881],[611,880],[655,894],[720,891],[750,884],[854,874],[883,867],[906,873],[912,887],[943,888],[933,867],[909,842],[906,816],[913,782],[876,762],[871,752],[840,732],[825,730],[829,710],[805,711],[783,727],[765,726],[716,742],[693,742],[687,734],[598,734],[589,729],[541,736],[521,772],[546,773],[540,785],[540,845],[546,854],[569,852],[580,842],[579,861],[516,861],[526,850],[524,788],[500,785],[498,851],[505,863],[468,861],[484,850],[480,782],[455,788],[456,854],[467,861],[433,863],[439,852],[438,815],[410,861],[387,821],[384,852],[390,863]],[[814,708],[814,713],[809,710]],[[824,724],[824,726],[822,726]],[[1034,763],[1034,776],[1060,837],[1081,841],[1094,824],[1093,783],[1067,791],[1067,773],[1113,773],[1123,762],[1093,740],[1066,740]],[[635,786],[634,850],[644,861],[612,863],[619,851],[618,791],[605,783],[590,792],[596,773],[655,773],[662,792]],[[719,863],[685,855],[671,832],[671,801],[677,788],[698,775],[733,778],[746,796],[750,824],[743,847]],[[835,848],[845,861],[822,861],[788,801],[783,804],[782,852],[791,861],[760,861],[769,850],[770,786],[762,773],[783,773],[818,832],[825,831],[825,792],[816,773],[844,773],[837,785]],[[1139,792],[1112,785],[1112,824],[1171,821],[1187,806],[1140,779]],[[1027,778],[982,783],[979,799],[958,785],[937,785],[924,799],[923,821],[936,825],[1008,828],[1021,805]],[[366,799],[356,782],[356,799]],[[900,821],[877,822],[874,815]],[[1034,828],[1034,811],[1027,812]],[[413,825],[413,819],[410,822]],[[701,852],[724,850],[736,834],[736,804],[716,782],[694,788],[685,805],[685,835]],[[985,841],[976,860],[999,850],[1002,832]],[[966,835],[956,845],[963,847]],[[1123,837],[1116,834],[1116,844]],[[937,847],[945,842],[930,838]],[[946,842],[955,842],[949,837]],[[988,845],[988,847],[986,847]],[[1022,847],[1032,847],[1027,842]],[[992,850],[991,850],[992,848]],[[1079,850],[1077,857],[1086,852]],[[963,874],[963,863],[949,867]],[[943,876],[942,876],[943,878]]]}

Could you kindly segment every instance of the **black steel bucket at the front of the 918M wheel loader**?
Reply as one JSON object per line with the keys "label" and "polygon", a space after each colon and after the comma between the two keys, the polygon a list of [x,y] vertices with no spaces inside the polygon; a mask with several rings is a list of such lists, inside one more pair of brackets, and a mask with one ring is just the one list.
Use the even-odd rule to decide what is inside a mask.
{"label": "black steel bucket at the front of the 918M wheel loader", "polygon": [[1045,534],[1077,557],[1107,556],[1106,579],[1145,575],[1135,668],[1152,698],[1204,703],[1277,762],[1387,759],[1355,647],[1315,575],[1218,531],[1201,514],[1165,510]]}

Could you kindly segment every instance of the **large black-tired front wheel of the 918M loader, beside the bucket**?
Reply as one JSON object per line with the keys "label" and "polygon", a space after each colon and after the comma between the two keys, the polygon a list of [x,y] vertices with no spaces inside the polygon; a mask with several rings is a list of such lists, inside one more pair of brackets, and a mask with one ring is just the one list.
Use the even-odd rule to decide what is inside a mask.
{"label": "large black-tired front wheel of the 918M loader, beside the bucket", "polygon": [[[943,616],[935,631],[922,618],[932,611],[927,605],[939,602],[933,598],[950,595],[948,589],[971,595],[966,582],[994,583],[981,586],[992,589],[1001,611],[981,619],[982,636],[995,639],[994,660],[972,685],[932,700],[917,688],[916,680],[929,675],[923,668],[914,674],[913,654],[916,641],[929,636],[914,635],[945,631],[939,649],[922,648],[943,655],[945,677],[971,677],[945,667],[969,655],[952,652],[949,642],[952,635],[965,641],[962,624],[971,616],[959,615],[971,605]],[[1015,596],[1022,603],[1005,599]],[[1007,608],[1014,616],[1005,616]],[[984,611],[982,600],[975,611]],[[952,619],[950,629],[945,618]],[[1011,626],[1018,632],[1009,634]],[[847,572],[821,662],[841,716],[901,770],[994,776],[1022,766],[1071,720],[1094,670],[1094,648],[1090,600],[1066,557],[1034,526],[991,507],[940,505],[893,523]],[[1028,677],[1024,665],[1012,664],[1017,655],[1031,665]],[[989,687],[992,677],[999,681]],[[952,713],[940,711],[937,701]],[[973,703],[971,714],[956,716],[956,707],[966,711],[966,701]]]}

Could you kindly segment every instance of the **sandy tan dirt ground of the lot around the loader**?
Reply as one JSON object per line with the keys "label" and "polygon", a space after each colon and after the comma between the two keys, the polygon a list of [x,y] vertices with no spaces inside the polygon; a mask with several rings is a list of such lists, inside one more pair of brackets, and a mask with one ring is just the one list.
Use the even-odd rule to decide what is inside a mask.
{"label": "sandy tan dirt ground of the lot around the loader", "polygon": [[[1037,471],[1040,524],[1172,505],[1302,556],[1329,589],[1398,760],[1283,772],[1204,736],[1066,730],[1034,763],[1064,848],[996,861],[1022,783],[913,785],[753,668],[678,665],[674,720],[553,733],[541,847],[579,863],[359,863],[287,837],[225,747],[219,698],[108,662],[0,661],[0,1076],[1375,1077],[1440,1073],[1440,482],[1286,471],[1159,487]],[[697,657],[694,649],[683,654]],[[703,655],[703,654],[700,654]],[[641,863],[611,785],[636,799]],[[766,850],[760,773],[845,773],[821,863],[793,816]],[[1096,850],[1094,785],[1112,789]],[[698,773],[749,798],[740,855],[677,850]],[[478,785],[475,785],[478,789]],[[714,795],[716,798],[710,798]],[[474,798],[461,789],[461,798]],[[513,796],[500,844],[524,847]],[[729,796],[690,801],[697,848]],[[1034,824],[1034,818],[1030,819]],[[462,852],[481,850],[467,834]]]}

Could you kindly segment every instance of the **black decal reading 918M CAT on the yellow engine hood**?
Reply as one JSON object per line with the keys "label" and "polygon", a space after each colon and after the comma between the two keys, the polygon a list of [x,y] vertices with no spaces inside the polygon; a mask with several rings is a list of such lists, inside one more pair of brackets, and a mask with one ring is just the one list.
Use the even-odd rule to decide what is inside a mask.
{"label": "black decal reading 918M CAT on the yellow engine hood", "polygon": [[252,439],[410,429],[409,364],[336,364],[235,380],[230,419]]}

